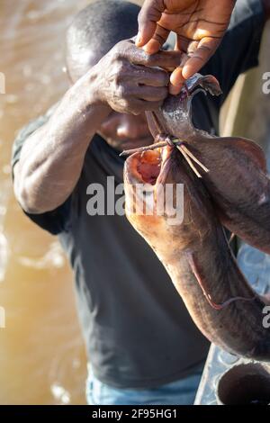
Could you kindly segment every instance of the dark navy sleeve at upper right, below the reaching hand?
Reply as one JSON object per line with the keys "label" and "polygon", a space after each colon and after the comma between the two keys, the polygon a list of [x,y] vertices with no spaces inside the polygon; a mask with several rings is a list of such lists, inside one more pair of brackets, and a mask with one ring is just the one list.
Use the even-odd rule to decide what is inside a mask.
{"label": "dark navy sleeve at upper right, below the reaching hand", "polygon": [[261,0],[237,0],[219,49],[203,67],[202,73],[217,77],[223,94],[217,98],[224,103],[238,76],[257,67],[266,11]]}

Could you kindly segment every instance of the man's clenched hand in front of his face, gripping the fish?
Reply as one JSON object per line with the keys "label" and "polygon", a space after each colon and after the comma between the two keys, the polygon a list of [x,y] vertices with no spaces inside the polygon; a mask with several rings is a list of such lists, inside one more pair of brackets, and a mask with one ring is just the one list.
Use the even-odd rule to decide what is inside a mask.
{"label": "man's clenched hand in front of his face, gripping the fish", "polygon": [[[116,44],[93,69],[95,92],[115,112],[139,114],[155,110],[168,94],[169,76],[164,69],[179,66],[181,53],[159,51],[149,55],[134,41]],[[162,67],[162,68],[160,68]]]}

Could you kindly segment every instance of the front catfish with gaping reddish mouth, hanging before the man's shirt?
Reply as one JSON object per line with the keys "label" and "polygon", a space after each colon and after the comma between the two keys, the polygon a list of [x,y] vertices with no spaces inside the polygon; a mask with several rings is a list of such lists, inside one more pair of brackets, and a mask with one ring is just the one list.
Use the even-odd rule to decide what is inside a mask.
{"label": "front catfish with gaping reddish mouth, hanging before the man's shirt", "polygon": [[[147,184],[154,207],[136,212],[136,186]],[[162,190],[184,186],[183,220],[171,224],[157,213]],[[165,266],[194,323],[204,336],[232,354],[270,361],[270,329],[263,326],[266,302],[238,269],[211,197],[175,148],[135,153],[124,167],[126,216]],[[165,202],[165,195],[161,202]],[[171,199],[176,203],[176,199]],[[146,204],[144,204],[146,205]]]}

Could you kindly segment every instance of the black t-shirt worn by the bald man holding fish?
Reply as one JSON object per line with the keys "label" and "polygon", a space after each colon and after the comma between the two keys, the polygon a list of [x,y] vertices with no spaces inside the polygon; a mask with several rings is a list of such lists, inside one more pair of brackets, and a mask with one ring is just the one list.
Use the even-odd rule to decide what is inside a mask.
{"label": "black t-shirt worn by the bald man holding fish", "polygon": [[[221,103],[238,75],[257,66],[264,21],[259,0],[238,0],[220,49],[202,69],[219,79],[223,94],[194,98],[198,128],[219,132]],[[24,140],[52,112],[32,121],[15,139],[13,166]],[[194,326],[166,270],[125,216],[87,214],[87,186],[102,184],[106,197],[107,176],[114,176],[111,184],[121,183],[123,163],[124,158],[95,135],[67,201],[55,211],[28,216],[58,234],[67,252],[94,375],[115,387],[150,388],[192,373],[205,359],[209,342]]]}

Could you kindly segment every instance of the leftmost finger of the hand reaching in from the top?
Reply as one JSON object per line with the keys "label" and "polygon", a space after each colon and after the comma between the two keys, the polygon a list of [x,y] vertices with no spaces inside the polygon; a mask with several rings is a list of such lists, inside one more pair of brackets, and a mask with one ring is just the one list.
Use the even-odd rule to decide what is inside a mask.
{"label": "leftmost finger of the hand reaching in from the top", "polygon": [[138,16],[137,47],[144,46],[156,31],[157,22],[165,9],[163,0],[145,0]]}

